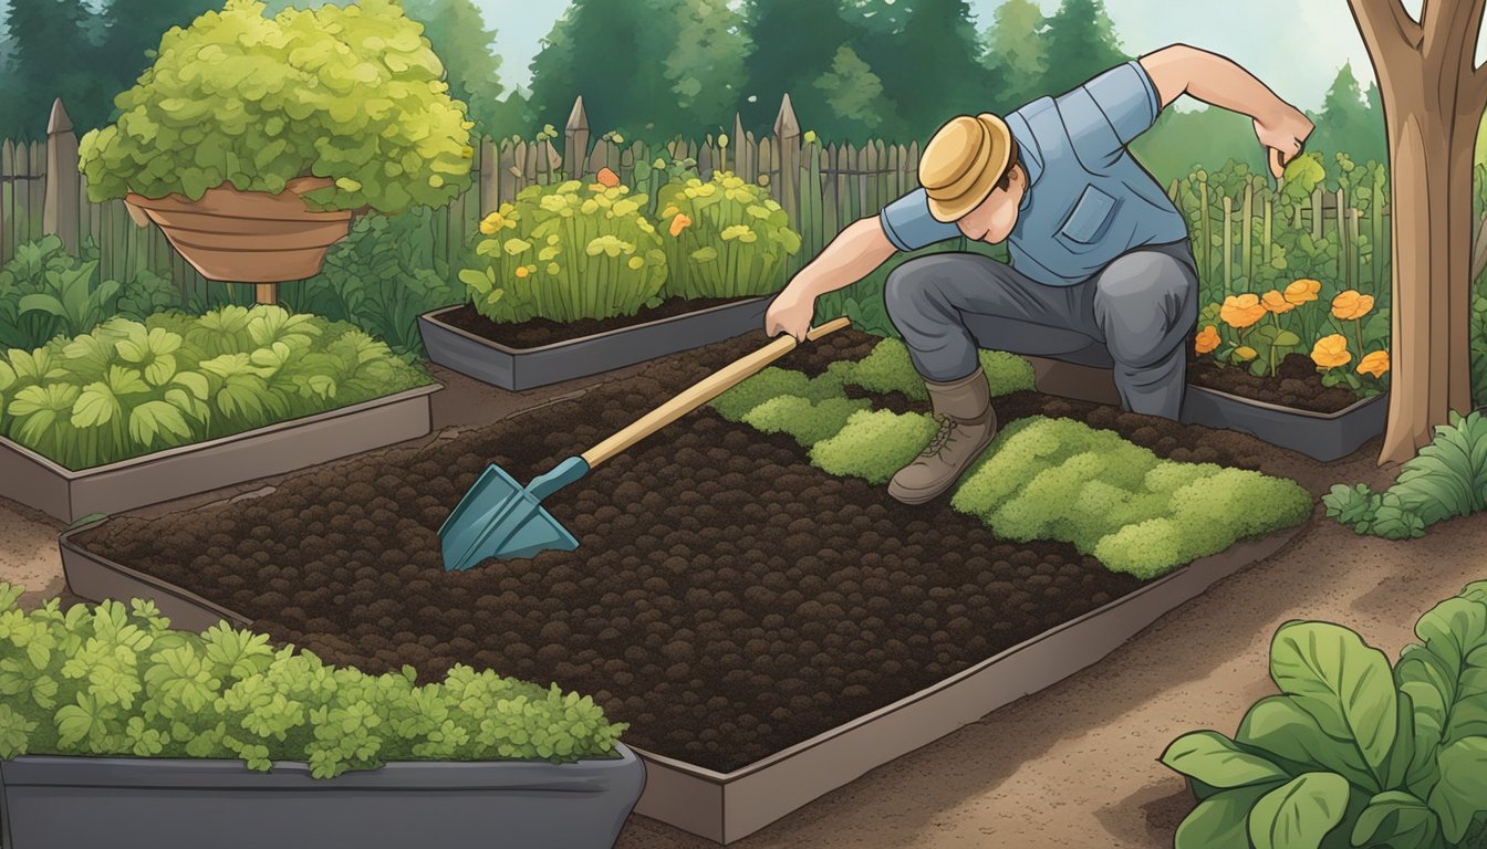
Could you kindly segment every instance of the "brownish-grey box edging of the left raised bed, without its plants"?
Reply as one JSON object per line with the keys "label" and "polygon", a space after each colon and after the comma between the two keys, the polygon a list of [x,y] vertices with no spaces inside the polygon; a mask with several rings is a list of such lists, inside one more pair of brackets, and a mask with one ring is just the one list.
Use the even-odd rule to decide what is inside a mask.
{"label": "brownish-grey box edging of the left raised bed, without its plants", "polygon": [[425,436],[439,384],[210,442],[71,471],[0,437],[0,497],[76,522]]}

